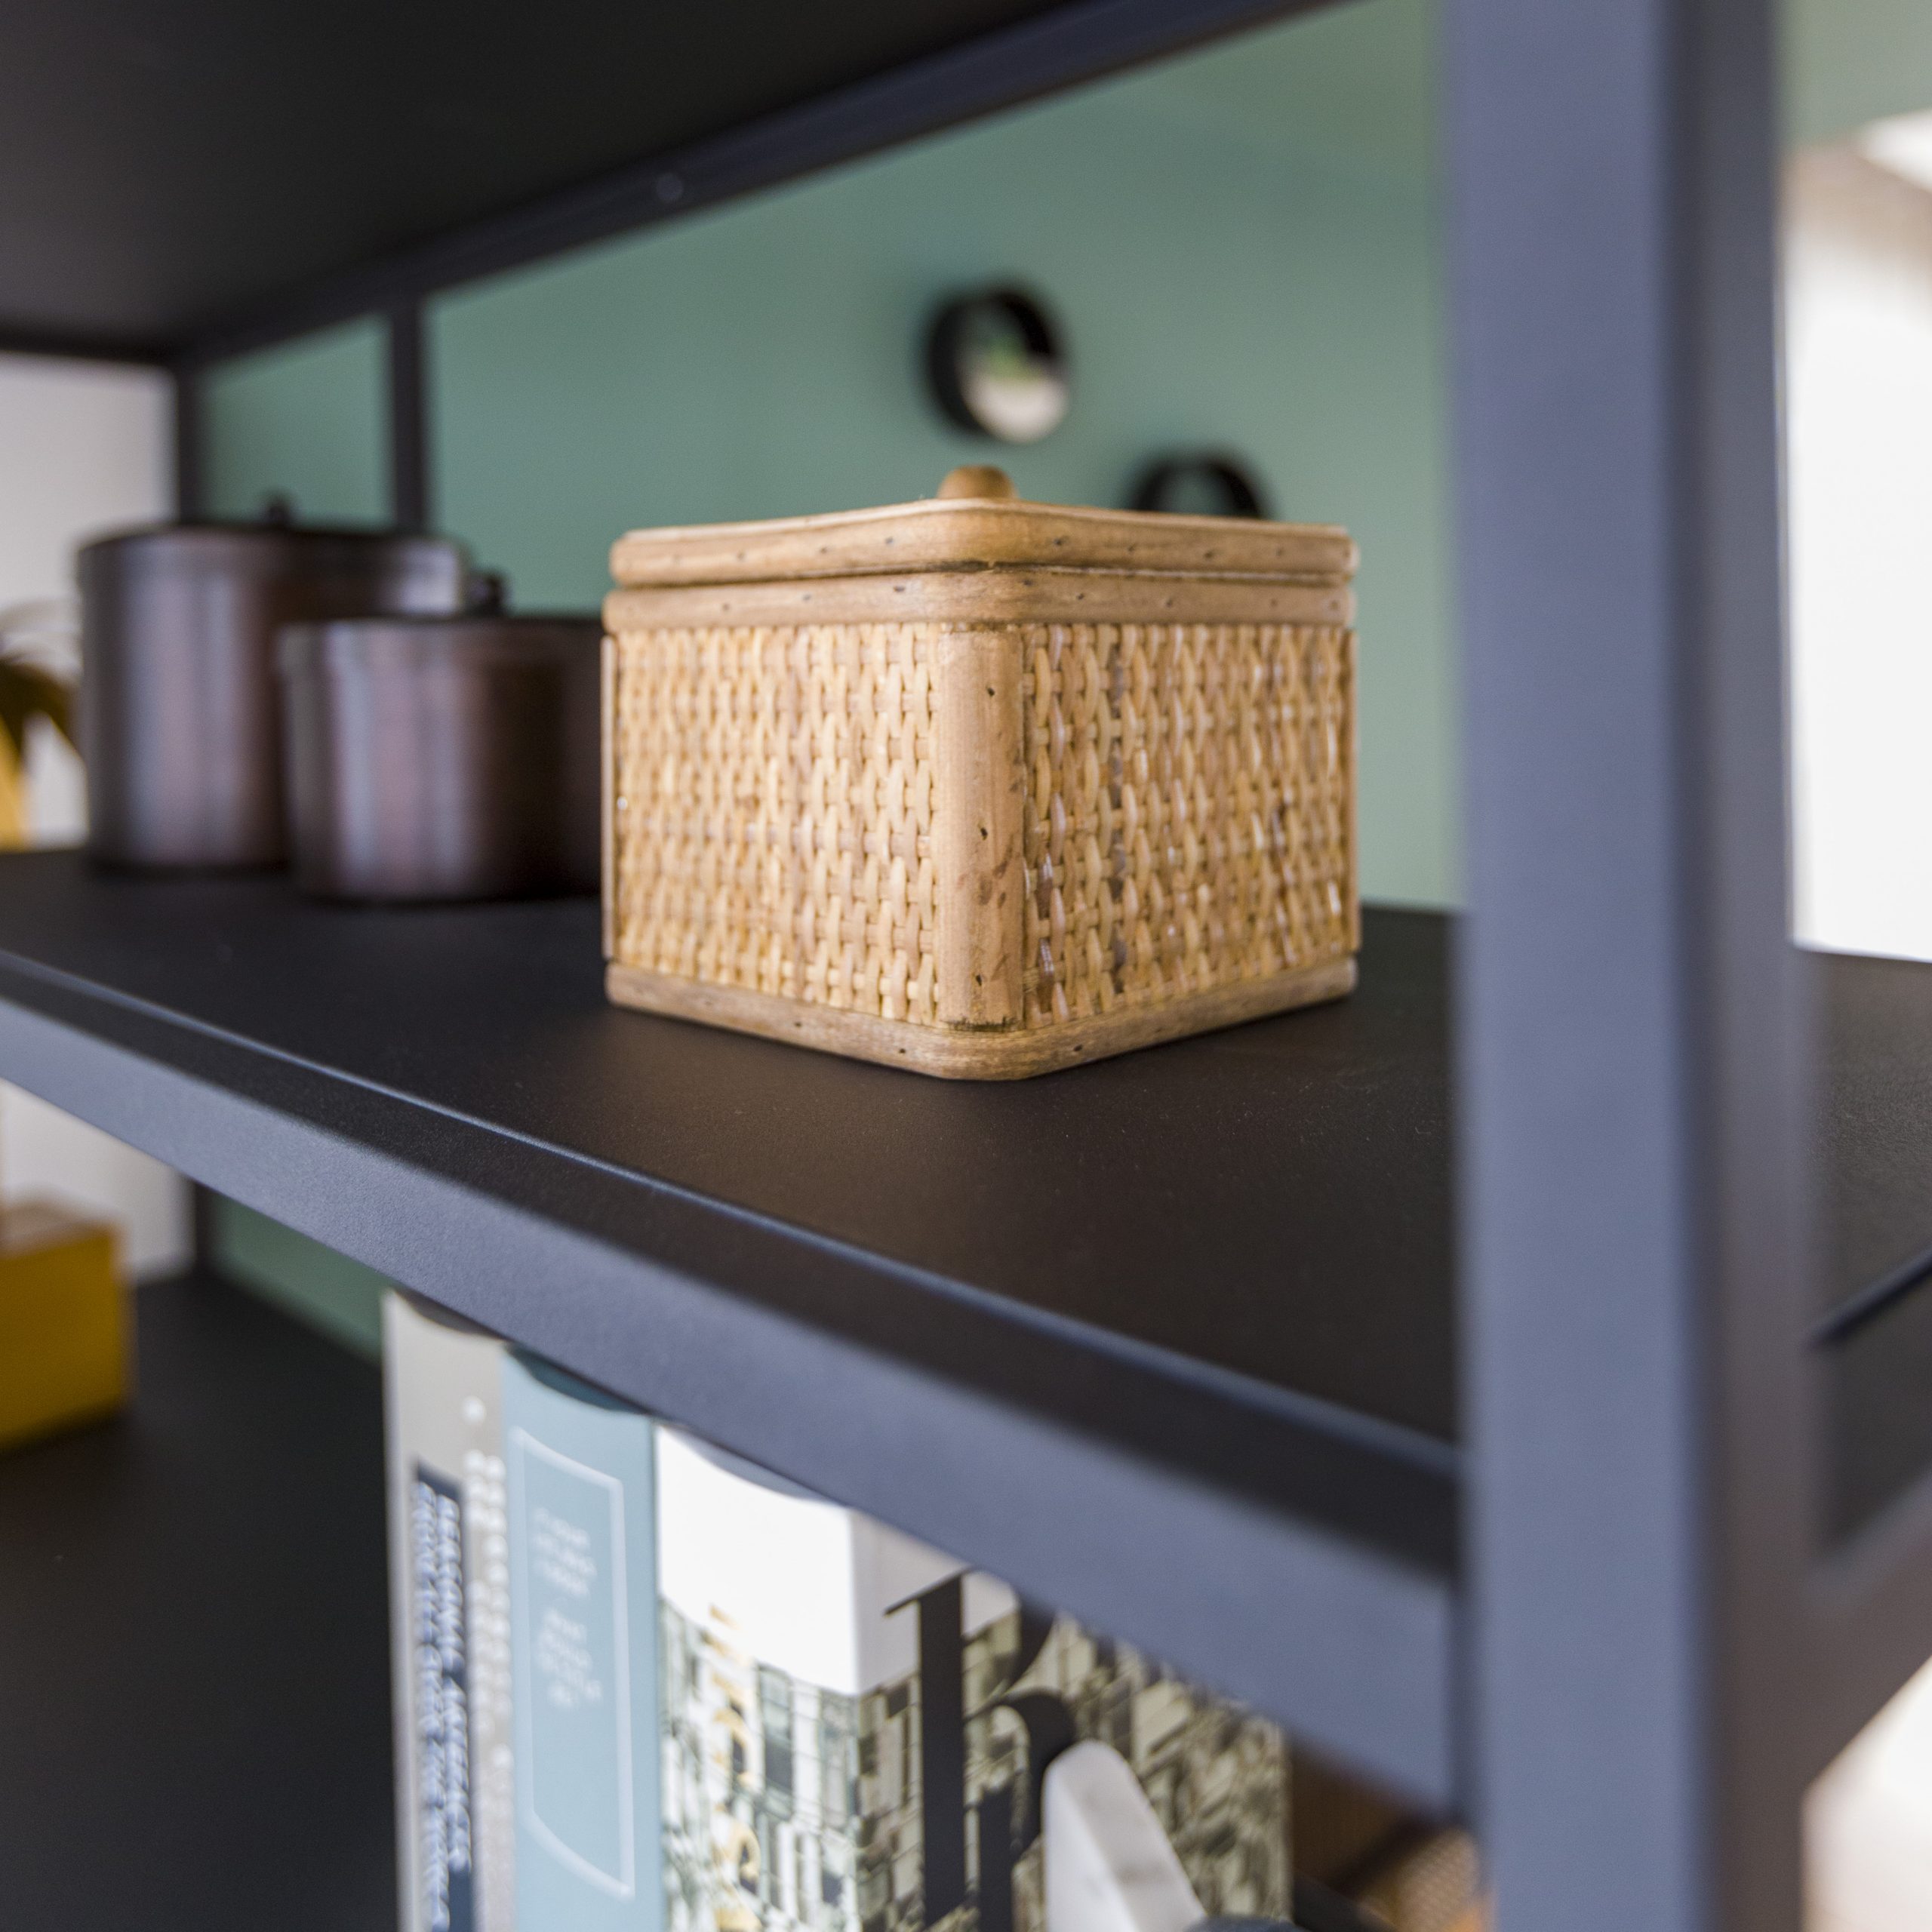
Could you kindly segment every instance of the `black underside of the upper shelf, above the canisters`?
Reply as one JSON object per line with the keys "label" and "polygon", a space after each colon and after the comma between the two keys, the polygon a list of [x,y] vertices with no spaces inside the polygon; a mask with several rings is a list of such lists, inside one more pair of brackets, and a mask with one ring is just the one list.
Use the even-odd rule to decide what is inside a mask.
{"label": "black underside of the upper shelf, above the canisters", "polygon": [[4,321],[164,344],[1045,4],[27,6],[0,60]]}

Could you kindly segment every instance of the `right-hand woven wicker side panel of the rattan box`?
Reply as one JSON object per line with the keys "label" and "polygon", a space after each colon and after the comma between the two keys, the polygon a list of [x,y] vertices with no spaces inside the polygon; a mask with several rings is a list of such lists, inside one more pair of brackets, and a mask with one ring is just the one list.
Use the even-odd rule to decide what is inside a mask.
{"label": "right-hand woven wicker side panel of the rattan box", "polygon": [[1022,634],[1026,1024],[1356,947],[1352,632]]}

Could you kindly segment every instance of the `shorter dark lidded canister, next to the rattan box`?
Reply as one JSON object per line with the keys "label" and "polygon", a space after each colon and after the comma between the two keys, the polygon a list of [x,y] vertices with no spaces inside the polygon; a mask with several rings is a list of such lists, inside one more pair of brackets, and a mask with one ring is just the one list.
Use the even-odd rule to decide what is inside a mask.
{"label": "shorter dark lidded canister, next to the rattan box", "polygon": [[296,883],[361,900],[595,893],[601,639],[593,616],[288,626]]}

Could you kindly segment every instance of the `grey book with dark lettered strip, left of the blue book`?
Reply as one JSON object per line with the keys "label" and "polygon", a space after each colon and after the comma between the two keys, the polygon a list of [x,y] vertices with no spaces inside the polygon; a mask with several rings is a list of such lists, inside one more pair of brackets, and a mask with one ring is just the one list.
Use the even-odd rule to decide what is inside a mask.
{"label": "grey book with dark lettered strip, left of the blue book", "polygon": [[512,1932],[504,1345],[383,1304],[402,1932]]}

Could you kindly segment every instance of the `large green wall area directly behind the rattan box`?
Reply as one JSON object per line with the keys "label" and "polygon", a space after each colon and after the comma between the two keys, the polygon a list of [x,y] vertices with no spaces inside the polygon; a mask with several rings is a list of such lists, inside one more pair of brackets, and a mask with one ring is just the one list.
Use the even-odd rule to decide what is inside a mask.
{"label": "large green wall area directly behind the rattan box", "polygon": [[[999,456],[1121,502],[1229,446],[1362,545],[1362,883],[1455,896],[1428,14],[1273,29],[437,303],[439,510],[520,601],[587,607],[639,524],[927,497]],[[1074,408],[999,452],[920,381],[949,290],[1066,325]]]}

